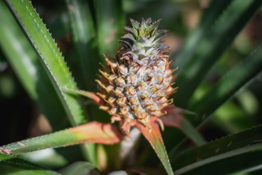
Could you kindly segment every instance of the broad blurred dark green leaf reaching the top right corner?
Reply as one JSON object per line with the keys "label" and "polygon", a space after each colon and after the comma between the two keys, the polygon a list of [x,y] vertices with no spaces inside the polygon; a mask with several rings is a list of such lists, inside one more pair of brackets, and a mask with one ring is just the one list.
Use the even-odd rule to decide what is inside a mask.
{"label": "broad blurred dark green leaf reaching the top right corner", "polygon": [[196,87],[261,4],[262,1],[234,0],[216,19],[216,23],[205,33],[194,54],[176,78],[179,88],[173,97],[183,99],[176,103],[177,106],[182,108],[188,106],[188,100]]}

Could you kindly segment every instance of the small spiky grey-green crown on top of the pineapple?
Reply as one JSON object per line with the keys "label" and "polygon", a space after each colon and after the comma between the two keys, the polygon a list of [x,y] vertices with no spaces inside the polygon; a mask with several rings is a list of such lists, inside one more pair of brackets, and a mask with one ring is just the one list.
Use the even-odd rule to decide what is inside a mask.
{"label": "small spiky grey-green crown on top of the pineapple", "polygon": [[160,20],[152,23],[151,18],[146,21],[142,19],[141,24],[130,19],[133,28],[124,27],[128,34],[124,35],[119,42],[122,48],[118,51],[118,57],[128,59],[139,64],[154,63],[152,60],[158,60],[163,57],[169,46],[160,41],[163,36],[168,36],[168,30],[157,30]]}

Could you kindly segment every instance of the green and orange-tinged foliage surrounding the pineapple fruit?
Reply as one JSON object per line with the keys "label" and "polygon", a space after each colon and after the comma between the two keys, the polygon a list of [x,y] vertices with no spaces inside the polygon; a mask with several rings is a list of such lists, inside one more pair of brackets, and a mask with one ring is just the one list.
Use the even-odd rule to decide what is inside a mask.
{"label": "green and orange-tinged foliage surrounding the pineapple fruit", "polygon": [[[174,174],[261,174],[261,4],[1,1],[0,173],[165,174],[162,162],[172,174],[167,150]],[[158,132],[140,130],[156,140],[160,160],[138,130],[123,138],[109,114],[73,93],[95,99],[103,54],[116,54],[128,18],[149,17],[170,30],[164,40],[179,72],[172,96],[179,108],[166,121],[176,128],[162,132],[166,149]]]}

